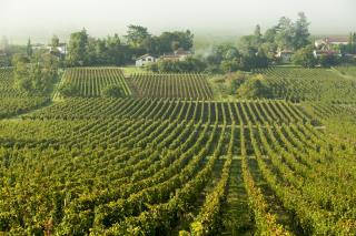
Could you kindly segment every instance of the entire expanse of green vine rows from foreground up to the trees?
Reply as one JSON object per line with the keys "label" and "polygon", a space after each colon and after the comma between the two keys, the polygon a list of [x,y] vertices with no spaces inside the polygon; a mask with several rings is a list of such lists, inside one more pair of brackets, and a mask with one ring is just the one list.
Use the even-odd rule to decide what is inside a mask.
{"label": "entire expanse of green vine rows from foreground up to the trees", "polygon": [[[264,73],[332,90],[286,70]],[[100,98],[109,74],[128,98]],[[0,120],[0,235],[355,235],[355,140],[325,125],[356,103],[215,101],[207,80],[70,69],[80,98]]]}

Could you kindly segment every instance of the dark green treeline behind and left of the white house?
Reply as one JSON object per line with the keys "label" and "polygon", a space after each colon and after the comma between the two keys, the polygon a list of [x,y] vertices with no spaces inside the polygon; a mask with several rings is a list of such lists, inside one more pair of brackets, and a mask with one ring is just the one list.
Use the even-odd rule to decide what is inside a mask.
{"label": "dark green treeline behind and left of the white house", "polygon": [[71,33],[66,64],[68,66],[130,64],[145,53],[158,57],[177,49],[190,50],[192,39],[194,34],[189,30],[152,35],[147,28],[140,25],[129,25],[123,40],[118,34],[97,39],[90,37],[83,29]]}

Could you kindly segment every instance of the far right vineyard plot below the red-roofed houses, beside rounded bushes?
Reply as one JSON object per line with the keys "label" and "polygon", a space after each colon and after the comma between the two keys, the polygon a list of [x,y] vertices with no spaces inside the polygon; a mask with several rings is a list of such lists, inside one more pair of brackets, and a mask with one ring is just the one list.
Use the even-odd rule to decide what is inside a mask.
{"label": "far right vineyard plot below the red-roofed houses, beside rounded bushes", "polygon": [[274,68],[256,72],[266,75],[275,98],[294,102],[350,102],[356,99],[356,79],[340,76],[332,70]]}

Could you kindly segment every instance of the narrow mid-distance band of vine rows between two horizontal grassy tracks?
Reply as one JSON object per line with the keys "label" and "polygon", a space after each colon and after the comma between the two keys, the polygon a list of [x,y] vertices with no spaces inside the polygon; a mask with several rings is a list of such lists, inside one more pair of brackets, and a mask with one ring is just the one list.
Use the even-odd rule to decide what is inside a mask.
{"label": "narrow mid-distance band of vine rows between two horizontal grassy tracks", "polygon": [[[98,112],[100,111],[100,112]],[[204,102],[180,100],[71,99],[24,119],[152,119],[218,124],[310,122],[299,107],[286,101],[260,100]]]}

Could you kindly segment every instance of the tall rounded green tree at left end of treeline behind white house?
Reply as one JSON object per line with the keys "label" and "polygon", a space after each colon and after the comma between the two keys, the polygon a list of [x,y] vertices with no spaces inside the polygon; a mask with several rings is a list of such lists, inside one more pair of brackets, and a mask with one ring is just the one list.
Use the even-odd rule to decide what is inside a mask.
{"label": "tall rounded green tree at left end of treeline behind white house", "polygon": [[67,61],[69,65],[85,65],[88,62],[88,34],[86,29],[70,34]]}

